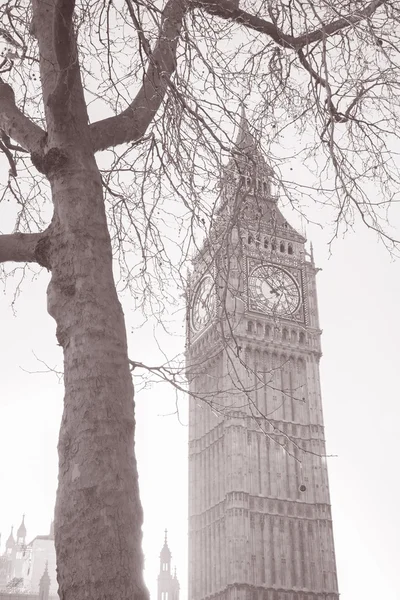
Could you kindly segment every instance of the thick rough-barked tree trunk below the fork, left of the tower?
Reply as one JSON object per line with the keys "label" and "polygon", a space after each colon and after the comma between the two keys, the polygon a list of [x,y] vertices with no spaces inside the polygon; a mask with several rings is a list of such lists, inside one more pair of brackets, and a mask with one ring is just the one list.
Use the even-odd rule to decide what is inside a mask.
{"label": "thick rough-barked tree trunk below the fork, left of the tower", "polygon": [[100,175],[88,153],[49,177],[48,309],[64,351],[55,543],[61,600],[147,598],[133,385]]}

